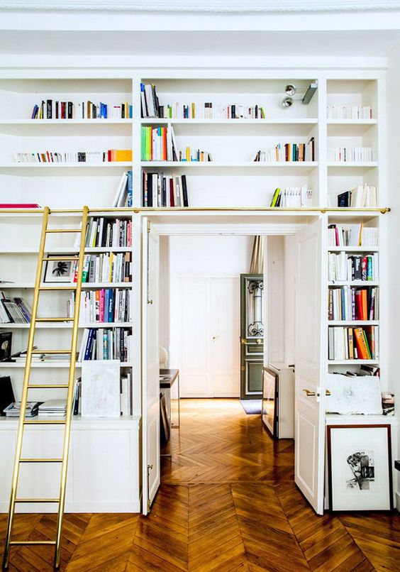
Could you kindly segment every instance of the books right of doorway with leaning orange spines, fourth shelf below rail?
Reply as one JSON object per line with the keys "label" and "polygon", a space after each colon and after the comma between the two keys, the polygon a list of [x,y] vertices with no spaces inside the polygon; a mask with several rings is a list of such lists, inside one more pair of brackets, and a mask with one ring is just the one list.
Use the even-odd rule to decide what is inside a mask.
{"label": "books right of doorway with leaning orange spines, fourth shelf below rail", "polygon": [[377,360],[379,358],[379,328],[328,328],[329,360]]}

